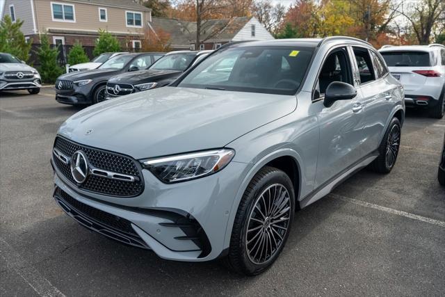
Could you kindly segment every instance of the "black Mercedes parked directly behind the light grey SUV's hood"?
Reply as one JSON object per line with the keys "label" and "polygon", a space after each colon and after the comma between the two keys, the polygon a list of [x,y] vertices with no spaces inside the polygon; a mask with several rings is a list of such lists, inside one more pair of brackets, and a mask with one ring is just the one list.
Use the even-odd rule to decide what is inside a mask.
{"label": "black Mercedes parked directly behind the light grey SUV's hood", "polygon": [[167,86],[212,51],[171,51],[147,70],[111,77],[106,84],[107,99],[151,88]]}

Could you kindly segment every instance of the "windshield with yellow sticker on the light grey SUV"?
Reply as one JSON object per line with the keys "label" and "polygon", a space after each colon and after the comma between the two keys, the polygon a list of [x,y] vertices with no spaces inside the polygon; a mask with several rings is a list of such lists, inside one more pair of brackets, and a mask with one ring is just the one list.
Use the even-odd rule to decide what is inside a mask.
{"label": "windshield with yellow sticker on the light grey SUV", "polygon": [[313,52],[307,47],[224,49],[204,59],[178,86],[293,95]]}

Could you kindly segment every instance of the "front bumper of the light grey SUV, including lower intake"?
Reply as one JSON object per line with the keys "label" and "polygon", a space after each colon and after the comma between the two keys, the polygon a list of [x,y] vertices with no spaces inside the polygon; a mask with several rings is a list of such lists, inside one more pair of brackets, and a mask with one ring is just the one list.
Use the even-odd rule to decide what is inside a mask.
{"label": "front bumper of the light grey SUV, including lower intake", "polygon": [[[90,230],[151,249],[163,259],[202,262],[220,257],[227,248],[228,218],[241,183],[236,177],[246,166],[232,162],[216,175],[179,184],[163,184],[143,170],[145,184],[149,186],[135,198],[81,191],[56,169],[54,198],[69,216]],[[81,207],[76,207],[78,204]],[[103,213],[105,222],[85,209],[93,214]],[[123,224],[124,229],[113,227],[116,222]]]}

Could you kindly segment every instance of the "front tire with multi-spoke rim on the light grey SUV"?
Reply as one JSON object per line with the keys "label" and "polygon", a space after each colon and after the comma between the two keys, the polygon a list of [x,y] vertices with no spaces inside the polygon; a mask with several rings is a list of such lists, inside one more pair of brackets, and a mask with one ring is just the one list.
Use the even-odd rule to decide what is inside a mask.
{"label": "front tire with multi-spoke rim on the light grey SUV", "polygon": [[[276,197],[277,193],[278,199]],[[263,197],[262,200],[261,197]],[[261,204],[260,201],[268,201],[268,207],[266,202]],[[272,204],[270,204],[271,201],[273,201]],[[259,205],[258,208],[257,205]],[[265,214],[261,212],[261,209],[263,209]],[[283,213],[283,211],[286,212]],[[289,179],[286,173],[277,168],[268,166],[261,168],[253,177],[248,188],[246,188],[236,212],[229,253],[224,259],[225,265],[230,270],[245,275],[257,275],[266,271],[275,262],[286,244],[294,212],[295,194],[291,179]],[[261,216],[264,218],[264,222],[262,224],[257,223],[255,216],[257,218]],[[277,218],[277,216],[280,216],[280,218]],[[251,227],[254,224],[257,224],[257,227]],[[280,227],[277,227],[277,225]],[[252,228],[249,232],[248,227]],[[286,230],[284,230],[284,227],[286,227]],[[256,239],[255,236],[257,236]],[[248,240],[251,243],[248,243]],[[253,244],[255,246],[258,244],[258,247],[256,248]],[[250,251],[248,250],[249,245]],[[259,246],[261,245],[263,247],[267,246],[267,248],[264,254],[264,250],[261,248],[259,253],[261,255],[259,255],[258,259],[256,258],[257,254],[253,254],[254,251],[258,253]],[[270,252],[268,255],[269,247]],[[261,262],[262,255],[264,255],[263,262]]]}

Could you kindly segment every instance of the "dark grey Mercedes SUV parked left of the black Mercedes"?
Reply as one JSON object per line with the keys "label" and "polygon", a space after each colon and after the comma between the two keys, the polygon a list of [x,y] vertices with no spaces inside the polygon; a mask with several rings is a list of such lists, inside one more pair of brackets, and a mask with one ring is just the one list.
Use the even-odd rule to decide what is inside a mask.
{"label": "dark grey Mercedes SUV parked left of the black Mercedes", "polygon": [[147,69],[163,53],[115,56],[95,70],[70,72],[56,80],[56,100],[63,104],[95,104],[106,99],[106,81],[116,74]]}

